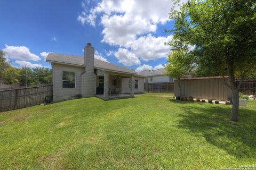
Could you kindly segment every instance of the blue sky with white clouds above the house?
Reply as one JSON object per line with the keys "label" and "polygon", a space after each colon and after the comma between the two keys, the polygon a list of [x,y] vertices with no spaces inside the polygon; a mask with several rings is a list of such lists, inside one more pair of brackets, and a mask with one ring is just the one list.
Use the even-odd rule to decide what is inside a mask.
{"label": "blue sky with white clouds above the house", "polygon": [[130,69],[159,69],[170,48],[170,1],[10,1],[0,2],[0,48],[12,65],[48,66],[49,52],[83,55]]}

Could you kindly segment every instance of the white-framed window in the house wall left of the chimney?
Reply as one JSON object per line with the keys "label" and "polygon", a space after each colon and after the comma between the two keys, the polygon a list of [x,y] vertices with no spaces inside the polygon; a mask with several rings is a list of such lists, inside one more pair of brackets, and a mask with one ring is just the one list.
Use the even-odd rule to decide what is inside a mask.
{"label": "white-framed window in the house wall left of the chimney", "polygon": [[76,88],[76,72],[62,71],[62,88]]}

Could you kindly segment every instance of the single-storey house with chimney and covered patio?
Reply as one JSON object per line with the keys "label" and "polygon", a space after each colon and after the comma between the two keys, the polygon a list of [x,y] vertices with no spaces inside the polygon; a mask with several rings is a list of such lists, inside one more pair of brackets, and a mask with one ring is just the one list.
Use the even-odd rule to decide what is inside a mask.
{"label": "single-storey house with chimney and covered patio", "polygon": [[134,93],[143,92],[143,76],[95,59],[90,43],[84,48],[84,56],[49,53],[46,62],[52,65],[53,101],[92,96],[133,97]]}

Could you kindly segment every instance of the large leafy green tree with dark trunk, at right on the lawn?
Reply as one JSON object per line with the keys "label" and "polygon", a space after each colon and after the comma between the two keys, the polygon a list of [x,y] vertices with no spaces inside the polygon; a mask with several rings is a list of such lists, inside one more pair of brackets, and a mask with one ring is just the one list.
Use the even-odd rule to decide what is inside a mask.
{"label": "large leafy green tree with dark trunk, at right on the lawn", "polygon": [[[237,121],[239,97],[244,78],[256,67],[255,0],[188,0],[180,10],[171,10],[174,20],[172,49],[195,46],[196,63],[214,68],[232,90],[230,119]],[[228,75],[228,82],[224,77]],[[237,84],[235,79],[241,81]]]}

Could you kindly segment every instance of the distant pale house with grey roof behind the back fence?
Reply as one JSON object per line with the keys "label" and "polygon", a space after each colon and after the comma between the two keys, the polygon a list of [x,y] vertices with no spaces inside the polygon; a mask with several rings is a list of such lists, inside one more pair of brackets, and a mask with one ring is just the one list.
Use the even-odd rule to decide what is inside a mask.
{"label": "distant pale house with grey roof behind the back fence", "polygon": [[163,82],[173,82],[173,78],[169,75],[165,75],[165,69],[158,70],[145,70],[138,73],[145,77],[145,83],[163,83]]}

